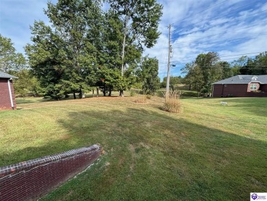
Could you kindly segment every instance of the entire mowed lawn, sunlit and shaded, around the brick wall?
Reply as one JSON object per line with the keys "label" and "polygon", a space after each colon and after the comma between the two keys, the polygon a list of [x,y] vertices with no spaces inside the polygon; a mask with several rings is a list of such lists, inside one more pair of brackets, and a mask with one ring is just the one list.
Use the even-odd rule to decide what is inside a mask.
{"label": "entire mowed lawn, sunlit and shaded, around the brick wall", "polygon": [[[249,200],[267,191],[267,98],[18,101],[0,111],[0,166],[99,143],[105,154],[40,200]],[[27,101],[28,100],[28,101]],[[227,102],[222,106],[220,102]]]}

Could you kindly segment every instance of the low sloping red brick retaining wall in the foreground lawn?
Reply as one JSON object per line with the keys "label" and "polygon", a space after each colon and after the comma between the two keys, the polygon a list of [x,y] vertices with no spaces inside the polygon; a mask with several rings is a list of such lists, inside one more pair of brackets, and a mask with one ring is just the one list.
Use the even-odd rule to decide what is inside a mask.
{"label": "low sloping red brick retaining wall in the foreground lawn", "polygon": [[79,174],[101,155],[92,145],[0,167],[0,200],[37,200]]}

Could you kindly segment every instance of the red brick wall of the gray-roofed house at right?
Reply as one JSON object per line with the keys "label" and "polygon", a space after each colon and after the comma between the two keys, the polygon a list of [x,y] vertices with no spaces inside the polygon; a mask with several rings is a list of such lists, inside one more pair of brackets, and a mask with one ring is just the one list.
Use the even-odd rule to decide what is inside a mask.
{"label": "red brick wall of the gray-roofed house at right", "polygon": [[[249,84],[214,84],[213,97],[267,97],[266,93],[248,92]],[[261,85],[259,90],[267,89],[267,84]],[[264,90],[262,90],[264,91]]]}

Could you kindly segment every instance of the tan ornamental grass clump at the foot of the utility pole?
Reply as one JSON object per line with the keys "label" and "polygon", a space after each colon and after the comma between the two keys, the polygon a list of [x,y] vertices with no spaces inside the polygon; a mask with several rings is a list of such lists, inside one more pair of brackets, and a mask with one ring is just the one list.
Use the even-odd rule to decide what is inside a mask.
{"label": "tan ornamental grass clump at the foot of the utility pole", "polygon": [[183,106],[181,104],[180,97],[180,91],[170,91],[169,98],[166,100],[164,106],[162,107],[162,110],[169,113],[182,113]]}

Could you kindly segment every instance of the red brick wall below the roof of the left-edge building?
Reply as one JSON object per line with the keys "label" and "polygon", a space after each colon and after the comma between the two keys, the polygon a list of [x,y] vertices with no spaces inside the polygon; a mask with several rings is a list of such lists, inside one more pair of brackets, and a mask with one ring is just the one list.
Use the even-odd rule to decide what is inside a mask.
{"label": "red brick wall below the roof of the left-edge building", "polygon": [[[10,102],[10,92],[8,90],[8,80],[9,79],[0,78],[0,110],[12,110]],[[16,100],[15,100],[12,80],[10,80],[10,88],[12,93],[14,109],[16,109]]]}

